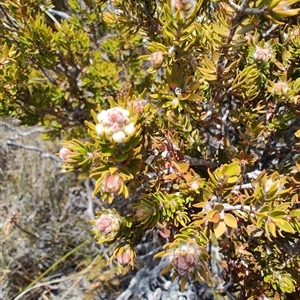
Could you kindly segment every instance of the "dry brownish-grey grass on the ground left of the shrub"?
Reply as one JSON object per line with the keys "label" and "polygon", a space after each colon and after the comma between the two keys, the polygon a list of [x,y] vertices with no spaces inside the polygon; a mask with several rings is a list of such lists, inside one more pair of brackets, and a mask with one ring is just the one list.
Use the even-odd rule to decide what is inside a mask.
{"label": "dry brownish-grey grass on the ground left of the shrub", "polygon": [[0,120],[0,299],[115,299],[121,283],[106,267],[87,220],[89,180],[62,175],[59,141],[42,128]]}

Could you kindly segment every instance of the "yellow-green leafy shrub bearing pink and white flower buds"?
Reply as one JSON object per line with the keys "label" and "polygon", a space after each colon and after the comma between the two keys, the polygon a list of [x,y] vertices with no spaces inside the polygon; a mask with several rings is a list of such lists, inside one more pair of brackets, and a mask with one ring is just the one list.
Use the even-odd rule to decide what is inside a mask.
{"label": "yellow-green leafy shrub bearing pink and white flower buds", "polygon": [[[92,2],[99,11],[79,20],[81,2],[70,1],[72,17],[55,22],[51,33],[58,42],[42,39],[50,74],[70,60],[78,73],[74,80],[57,72],[53,86],[47,81],[47,97],[64,105],[55,108],[61,116],[45,118],[68,126],[72,103],[92,109],[82,118],[88,139],[66,139],[59,155],[65,171],[95,179],[93,196],[109,204],[117,197],[128,207],[126,213],[98,212],[91,221],[97,242],[114,244],[110,262],[134,267],[135,246],[152,231],[164,239],[157,257],[169,260],[165,271],[181,278],[181,289],[193,279],[215,285],[209,264],[215,245],[223,268],[222,283],[214,286],[219,294],[249,300],[299,295],[299,1]],[[82,20],[107,35],[101,31],[91,42]],[[51,31],[37,27],[40,39]],[[66,33],[74,49],[65,49]],[[28,91],[14,71],[18,59],[33,55],[21,50],[35,53],[35,44],[18,39],[21,49],[9,40],[2,46],[0,70],[11,84],[2,83],[2,94],[18,98],[26,91],[37,102],[36,77]],[[99,48],[89,50],[94,44]],[[55,53],[64,56],[56,60]],[[37,71],[26,76],[30,72]],[[61,82],[68,85],[63,95]],[[17,104],[0,107],[20,115]]]}

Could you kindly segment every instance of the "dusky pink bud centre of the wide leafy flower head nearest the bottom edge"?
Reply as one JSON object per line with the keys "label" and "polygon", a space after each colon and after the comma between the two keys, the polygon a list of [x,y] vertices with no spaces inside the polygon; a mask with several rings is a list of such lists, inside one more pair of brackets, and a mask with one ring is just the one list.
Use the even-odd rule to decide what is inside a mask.
{"label": "dusky pink bud centre of the wide leafy flower head nearest the bottom edge", "polygon": [[172,263],[179,275],[193,273],[199,260],[199,249],[195,246],[183,245],[174,251]]}

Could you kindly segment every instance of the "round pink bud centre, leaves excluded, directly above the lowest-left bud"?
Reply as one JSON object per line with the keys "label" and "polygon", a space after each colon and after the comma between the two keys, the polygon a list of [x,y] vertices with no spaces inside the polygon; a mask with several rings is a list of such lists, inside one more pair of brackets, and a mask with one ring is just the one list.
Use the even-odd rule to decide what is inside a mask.
{"label": "round pink bud centre, leaves excluded, directly above the lowest-left bud", "polygon": [[120,229],[121,219],[113,211],[103,213],[96,221],[96,230],[101,236],[112,239]]}

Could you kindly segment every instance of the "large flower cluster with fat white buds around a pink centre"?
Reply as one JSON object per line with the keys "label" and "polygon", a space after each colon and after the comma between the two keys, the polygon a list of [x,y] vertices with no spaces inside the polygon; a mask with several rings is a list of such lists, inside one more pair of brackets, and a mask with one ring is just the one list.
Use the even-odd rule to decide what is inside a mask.
{"label": "large flower cluster with fat white buds around a pink centre", "polygon": [[98,116],[99,123],[96,132],[99,136],[112,139],[115,143],[123,143],[131,135],[135,126],[129,117],[129,111],[124,108],[114,107],[102,110]]}

